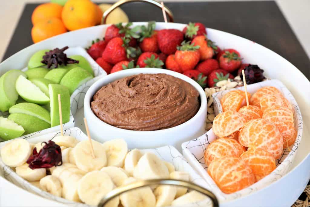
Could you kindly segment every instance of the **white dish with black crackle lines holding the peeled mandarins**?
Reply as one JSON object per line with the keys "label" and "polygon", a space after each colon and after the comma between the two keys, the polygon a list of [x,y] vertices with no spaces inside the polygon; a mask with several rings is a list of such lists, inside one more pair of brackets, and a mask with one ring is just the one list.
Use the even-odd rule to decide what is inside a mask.
{"label": "white dish with black crackle lines holding the peeled mandarins", "polygon": [[[189,164],[191,164],[198,171],[201,177],[203,177],[210,184],[212,188],[211,189],[212,192],[217,196],[220,202],[237,199],[237,198],[249,195],[250,193],[253,193],[260,189],[263,189],[264,187],[267,187],[271,183],[282,178],[290,170],[293,164],[294,157],[296,155],[299,143],[301,141],[302,133],[303,133],[303,119],[300,113],[299,106],[296,100],[294,99],[293,95],[290,93],[290,91],[279,80],[266,80],[260,83],[250,84],[247,86],[247,91],[253,94],[259,88],[262,88],[265,86],[273,86],[279,89],[284,95],[284,97],[286,97],[290,101],[290,103],[292,104],[294,108],[294,124],[295,124],[295,129],[297,130],[297,138],[295,140],[295,143],[294,145],[290,146],[291,151],[287,149],[283,150],[281,159],[276,160],[277,168],[272,173],[270,173],[268,176],[261,179],[259,182],[254,183],[250,187],[247,187],[235,193],[231,193],[231,194],[223,193],[219,189],[219,187],[215,184],[215,182],[210,177],[210,175],[207,173],[206,171],[207,166],[204,161],[204,152],[206,151],[206,148],[212,141],[217,139],[212,129],[208,131],[207,133],[205,133],[204,135],[196,139],[193,139],[191,141],[184,142],[182,144],[182,151],[183,151],[184,157],[188,160]],[[234,88],[231,90],[236,90],[236,89],[244,90],[244,87]],[[215,115],[223,111],[222,106],[220,104],[220,99],[227,92],[231,90],[217,92],[212,95],[212,97],[214,98]]]}

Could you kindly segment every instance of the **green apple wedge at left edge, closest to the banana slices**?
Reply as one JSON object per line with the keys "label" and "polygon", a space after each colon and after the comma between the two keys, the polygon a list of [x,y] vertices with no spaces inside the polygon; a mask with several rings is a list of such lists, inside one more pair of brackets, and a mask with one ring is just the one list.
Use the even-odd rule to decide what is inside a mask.
{"label": "green apple wedge at left edge, closest to the banana slices", "polygon": [[0,116],[0,138],[4,140],[20,137],[25,132],[24,128],[14,121]]}

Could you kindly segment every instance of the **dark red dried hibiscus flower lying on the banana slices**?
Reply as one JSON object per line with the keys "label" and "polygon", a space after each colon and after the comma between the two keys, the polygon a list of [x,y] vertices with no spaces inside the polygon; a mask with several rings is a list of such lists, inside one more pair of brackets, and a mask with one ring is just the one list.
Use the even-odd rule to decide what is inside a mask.
{"label": "dark red dried hibiscus flower lying on the banana slices", "polygon": [[51,168],[53,166],[62,165],[61,149],[55,142],[49,140],[42,142],[45,145],[37,152],[37,148],[33,149],[32,155],[28,158],[29,168]]}

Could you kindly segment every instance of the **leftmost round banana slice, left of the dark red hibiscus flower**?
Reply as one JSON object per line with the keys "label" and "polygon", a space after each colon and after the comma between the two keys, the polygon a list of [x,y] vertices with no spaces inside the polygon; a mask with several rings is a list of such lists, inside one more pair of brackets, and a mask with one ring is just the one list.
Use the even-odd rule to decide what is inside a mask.
{"label": "leftmost round banana slice, left of the dark red hibiscus flower", "polygon": [[30,143],[24,139],[14,139],[3,146],[0,151],[2,161],[10,167],[24,164],[32,153]]}

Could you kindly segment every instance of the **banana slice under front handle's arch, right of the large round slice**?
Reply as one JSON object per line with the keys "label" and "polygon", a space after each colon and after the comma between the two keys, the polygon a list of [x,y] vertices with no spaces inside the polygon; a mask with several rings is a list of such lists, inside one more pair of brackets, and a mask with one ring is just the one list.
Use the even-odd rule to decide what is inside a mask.
{"label": "banana slice under front handle's arch, right of the large round slice", "polygon": [[176,187],[170,185],[160,185],[155,191],[156,206],[169,206],[175,198]]}

